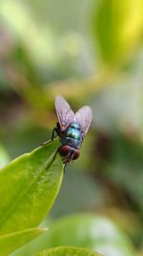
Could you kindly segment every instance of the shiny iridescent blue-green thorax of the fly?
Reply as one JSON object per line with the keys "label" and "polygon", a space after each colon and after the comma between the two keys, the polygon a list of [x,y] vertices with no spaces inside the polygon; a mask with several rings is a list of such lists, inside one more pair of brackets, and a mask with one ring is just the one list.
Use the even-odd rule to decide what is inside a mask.
{"label": "shiny iridescent blue-green thorax of the fly", "polygon": [[63,145],[69,145],[72,148],[79,149],[82,142],[82,131],[78,123],[66,129],[65,134],[61,138]]}

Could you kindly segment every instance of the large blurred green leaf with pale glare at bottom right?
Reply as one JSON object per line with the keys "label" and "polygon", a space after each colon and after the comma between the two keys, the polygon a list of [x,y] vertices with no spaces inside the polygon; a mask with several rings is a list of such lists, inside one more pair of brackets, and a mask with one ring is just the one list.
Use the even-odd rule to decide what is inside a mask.
{"label": "large blurred green leaf with pale glare at bottom right", "polygon": [[128,236],[108,218],[78,214],[55,221],[47,234],[47,247],[87,247],[105,255],[135,255]]}

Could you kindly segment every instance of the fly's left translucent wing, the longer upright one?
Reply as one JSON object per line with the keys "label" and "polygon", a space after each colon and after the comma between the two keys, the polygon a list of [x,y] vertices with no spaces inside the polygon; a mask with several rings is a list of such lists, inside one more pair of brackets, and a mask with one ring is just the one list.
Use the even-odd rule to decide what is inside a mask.
{"label": "fly's left translucent wing, the longer upright one", "polygon": [[65,130],[74,122],[74,113],[66,100],[58,95],[55,98],[55,109],[61,130]]}

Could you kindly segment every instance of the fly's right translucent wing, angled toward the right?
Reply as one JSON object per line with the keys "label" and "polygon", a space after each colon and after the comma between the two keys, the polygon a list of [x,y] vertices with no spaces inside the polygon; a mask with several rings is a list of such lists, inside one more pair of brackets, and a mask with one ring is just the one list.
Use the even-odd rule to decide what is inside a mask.
{"label": "fly's right translucent wing, angled toward the right", "polygon": [[90,106],[86,105],[81,107],[74,117],[74,121],[77,122],[83,132],[83,138],[85,137],[88,129],[90,128],[92,122],[92,109]]}

